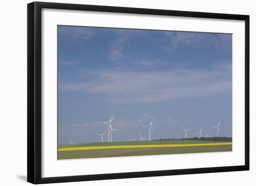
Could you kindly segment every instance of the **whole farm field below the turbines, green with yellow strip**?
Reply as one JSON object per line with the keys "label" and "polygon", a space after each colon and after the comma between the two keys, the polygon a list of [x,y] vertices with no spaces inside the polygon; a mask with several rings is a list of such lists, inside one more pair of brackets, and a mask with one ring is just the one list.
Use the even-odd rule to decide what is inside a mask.
{"label": "whole farm field below the turbines, green with yellow strip", "polygon": [[232,142],[155,140],[94,142],[58,146],[58,160],[232,151]]}

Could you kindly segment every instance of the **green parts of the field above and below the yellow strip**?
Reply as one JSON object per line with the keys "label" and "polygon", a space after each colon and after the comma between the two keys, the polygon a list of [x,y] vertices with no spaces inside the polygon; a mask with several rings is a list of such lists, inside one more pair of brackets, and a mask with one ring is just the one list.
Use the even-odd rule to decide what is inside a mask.
{"label": "green parts of the field above and below the yellow strip", "polygon": [[[226,141],[218,141],[218,143]],[[58,152],[58,160],[82,159],[82,158],[102,158],[102,157],[120,157],[120,156],[139,156],[139,155],[158,155],[158,154],[184,154],[184,153],[206,153],[206,152],[224,152],[232,151],[232,145],[211,146],[210,143],[216,141],[199,140],[156,140],[156,141],[121,141],[121,142],[95,142],[95,143],[77,143],[61,144],[61,148],[80,148],[97,146],[126,146],[126,145],[164,145],[164,144],[203,144],[209,143],[209,146],[195,147],[162,147],[162,148],[118,148],[118,149],[94,149],[94,150],[72,150]]]}

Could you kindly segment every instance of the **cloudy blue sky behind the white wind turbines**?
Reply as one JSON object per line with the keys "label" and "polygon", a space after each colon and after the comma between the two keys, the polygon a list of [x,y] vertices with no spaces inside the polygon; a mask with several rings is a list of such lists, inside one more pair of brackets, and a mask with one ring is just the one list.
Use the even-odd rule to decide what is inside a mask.
{"label": "cloudy blue sky behind the white wind turbines", "polygon": [[[232,136],[232,35],[58,26],[58,141]],[[104,136],[107,141],[108,136]]]}

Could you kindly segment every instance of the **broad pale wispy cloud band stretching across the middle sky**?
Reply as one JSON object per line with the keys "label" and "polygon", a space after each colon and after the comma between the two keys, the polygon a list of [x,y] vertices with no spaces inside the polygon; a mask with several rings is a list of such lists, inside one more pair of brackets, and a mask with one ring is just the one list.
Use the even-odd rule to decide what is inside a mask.
{"label": "broad pale wispy cloud band stretching across the middle sky", "polygon": [[148,103],[230,93],[231,65],[209,70],[85,71],[87,83],[61,83],[61,90],[104,95],[110,103]]}

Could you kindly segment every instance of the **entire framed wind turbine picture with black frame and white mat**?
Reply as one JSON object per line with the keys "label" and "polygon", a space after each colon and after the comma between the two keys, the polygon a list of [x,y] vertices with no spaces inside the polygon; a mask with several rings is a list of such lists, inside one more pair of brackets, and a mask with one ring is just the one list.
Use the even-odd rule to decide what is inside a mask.
{"label": "entire framed wind turbine picture with black frame and white mat", "polygon": [[245,170],[249,15],[27,5],[28,182]]}

